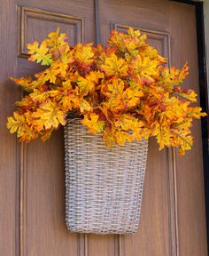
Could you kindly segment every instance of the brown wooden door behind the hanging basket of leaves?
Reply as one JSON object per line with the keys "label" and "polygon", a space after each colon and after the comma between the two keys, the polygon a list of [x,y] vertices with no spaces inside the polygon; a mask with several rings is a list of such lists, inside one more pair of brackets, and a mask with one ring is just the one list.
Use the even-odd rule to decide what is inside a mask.
{"label": "brown wooden door behind the hanging basket of leaves", "polygon": [[[1,0],[0,254],[4,256],[205,256],[205,198],[200,123],[184,157],[159,152],[150,140],[138,232],[128,236],[71,234],[65,226],[62,129],[42,143],[20,145],[5,128],[21,92],[9,76],[34,74],[26,44],[60,27],[71,44],[95,38],[93,0]],[[170,65],[190,64],[185,86],[198,91],[194,6],[167,0],[99,1],[102,43],[111,28],[140,28]]]}

